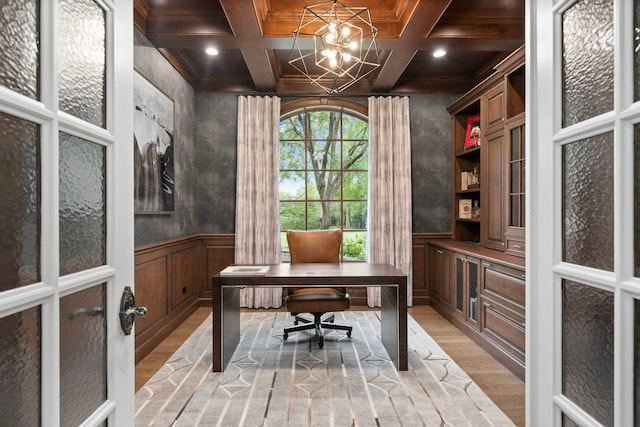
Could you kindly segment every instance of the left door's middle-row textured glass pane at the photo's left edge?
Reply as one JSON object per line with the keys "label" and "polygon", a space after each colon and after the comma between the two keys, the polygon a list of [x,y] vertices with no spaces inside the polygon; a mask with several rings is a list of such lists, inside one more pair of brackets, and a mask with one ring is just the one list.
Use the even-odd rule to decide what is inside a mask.
{"label": "left door's middle-row textured glass pane at the photo's left edge", "polygon": [[0,292],[40,280],[40,127],[0,113]]}

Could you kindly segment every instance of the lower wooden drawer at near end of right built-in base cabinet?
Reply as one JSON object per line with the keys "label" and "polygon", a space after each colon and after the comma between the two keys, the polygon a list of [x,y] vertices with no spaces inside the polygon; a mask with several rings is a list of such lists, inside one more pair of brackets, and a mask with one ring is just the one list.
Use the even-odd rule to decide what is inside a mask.
{"label": "lower wooden drawer at near end of right built-in base cabinet", "polygon": [[505,315],[505,311],[497,304],[483,301],[482,309],[484,311],[482,333],[490,336],[492,341],[524,362],[524,326]]}

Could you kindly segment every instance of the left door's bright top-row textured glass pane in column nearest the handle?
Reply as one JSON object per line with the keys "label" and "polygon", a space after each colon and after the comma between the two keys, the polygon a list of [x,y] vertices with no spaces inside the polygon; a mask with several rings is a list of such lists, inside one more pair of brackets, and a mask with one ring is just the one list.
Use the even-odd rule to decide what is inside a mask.
{"label": "left door's bright top-row textured glass pane in column nearest the handle", "polygon": [[60,109],[105,126],[104,10],[93,0],[60,0]]}

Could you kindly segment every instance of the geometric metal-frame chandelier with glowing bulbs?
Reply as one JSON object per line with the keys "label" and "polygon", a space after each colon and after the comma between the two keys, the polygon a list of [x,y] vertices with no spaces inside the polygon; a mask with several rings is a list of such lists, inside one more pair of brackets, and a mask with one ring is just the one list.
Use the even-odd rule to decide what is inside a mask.
{"label": "geometric metal-frame chandelier with glowing bulbs", "polygon": [[367,7],[336,0],[307,6],[293,30],[289,64],[327,93],[339,93],[380,66],[377,35]]}

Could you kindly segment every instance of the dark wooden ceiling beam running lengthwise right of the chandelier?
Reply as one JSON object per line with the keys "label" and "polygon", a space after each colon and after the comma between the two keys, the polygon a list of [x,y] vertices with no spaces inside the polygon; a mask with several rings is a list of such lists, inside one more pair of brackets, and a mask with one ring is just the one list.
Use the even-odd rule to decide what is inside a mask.
{"label": "dark wooden ceiling beam running lengthwise right of the chandelier", "polygon": [[[425,39],[433,27],[447,10],[451,0],[422,0],[416,5],[407,21],[407,25],[402,29],[399,39]],[[378,46],[379,49],[382,49]],[[417,50],[395,49],[388,55],[387,60],[380,67],[380,71],[373,84],[376,92],[388,92],[398,82],[402,73],[407,68]]]}

